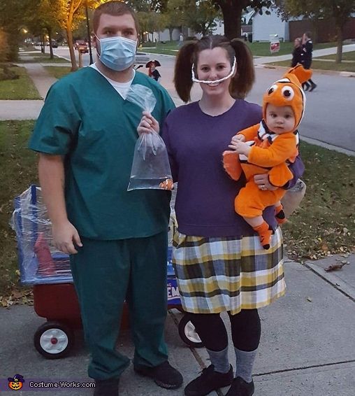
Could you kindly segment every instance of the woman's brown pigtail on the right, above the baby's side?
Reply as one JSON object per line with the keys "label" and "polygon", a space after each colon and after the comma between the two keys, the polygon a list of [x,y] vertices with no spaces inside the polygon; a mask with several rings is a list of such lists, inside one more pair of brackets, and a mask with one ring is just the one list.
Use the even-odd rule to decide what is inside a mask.
{"label": "woman's brown pigtail on the right, above the baby's side", "polygon": [[229,91],[234,99],[244,99],[255,80],[252,52],[243,41],[234,38],[231,46],[236,52],[237,73],[231,80]]}

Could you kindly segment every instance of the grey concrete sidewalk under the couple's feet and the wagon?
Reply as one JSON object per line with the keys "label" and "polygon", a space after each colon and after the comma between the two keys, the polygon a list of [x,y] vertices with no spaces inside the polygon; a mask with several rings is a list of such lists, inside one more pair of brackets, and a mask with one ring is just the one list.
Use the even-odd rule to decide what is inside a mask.
{"label": "grey concrete sidewalk under the couple's feet and the wagon", "polygon": [[[339,260],[339,261],[338,261]],[[322,267],[345,260],[342,269],[327,273]],[[255,396],[354,396],[355,394],[355,255],[333,256],[305,265],[286,260],[287,295],[260,309],[262,337],[254,367]],[[314,269],[315,268],[315,269]],[[347,288],[343,283],[347,283]],[[209,365],[203,348],[189,348],[178,335],[182,313],[168,314],[166,340],[171,363],[184,376],[184,386]],[[229,329],[228,318],[224,316]],[[33,346],[34,332],[44,323],[31,306],[0,309],[0,392],[7,378],[44,381],[89,381],[89,355],[76,333],[73,353],[61,360],[45,360]],[[230,334],[229,334],[230,337]],[[231,340],[231,337],[230,337]],[[121,334],[117,347],[130,358],[133,345],[129,331]],[[229,358],[235,367],[233,346]],[[225,395],[228,388],[210,395]],[[19,391],[18,395],[81,396],[92,390],[70,389],[43,392]],[[132,367],[120,382],[122,396],[178,396],[179,390],[158,388],[150,379],[137,376]]]}

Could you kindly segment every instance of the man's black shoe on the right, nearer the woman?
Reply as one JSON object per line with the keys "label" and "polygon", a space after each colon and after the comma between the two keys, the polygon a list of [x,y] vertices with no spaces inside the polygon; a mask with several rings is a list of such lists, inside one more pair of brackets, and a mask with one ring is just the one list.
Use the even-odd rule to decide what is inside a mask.
{"label": "man's black shoe on the right, nearer the woman", "polygon": [[134,371],[154,379],[154,382],[161,388],[176,389],[182,386],[182,375],[169,364],[168,360],[156,367],[135,366]]}

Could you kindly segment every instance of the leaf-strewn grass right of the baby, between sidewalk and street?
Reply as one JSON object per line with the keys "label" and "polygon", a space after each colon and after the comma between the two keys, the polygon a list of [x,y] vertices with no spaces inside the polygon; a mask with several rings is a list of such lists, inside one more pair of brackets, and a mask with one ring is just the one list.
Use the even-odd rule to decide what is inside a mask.
{"label": "leaf-strewn grass right of the baby, between sidewalk and street", "polygon": [[303,141],[307,185],[300,208],[283,226],[291,257],[355,252],[355,158]]}

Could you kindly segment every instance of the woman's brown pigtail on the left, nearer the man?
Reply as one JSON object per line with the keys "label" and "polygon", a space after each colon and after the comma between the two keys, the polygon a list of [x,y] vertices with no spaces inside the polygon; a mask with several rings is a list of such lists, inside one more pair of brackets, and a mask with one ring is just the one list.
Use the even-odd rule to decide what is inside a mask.
{"label": "woman's brown pigtail on the left, nearer the man", "polygon": [[193,84],[191,80],[191,66],[195,49],[196,43],[186,43],[180,48],[175,62],[175,90],[185,103],[190,100],[191,87]]}

